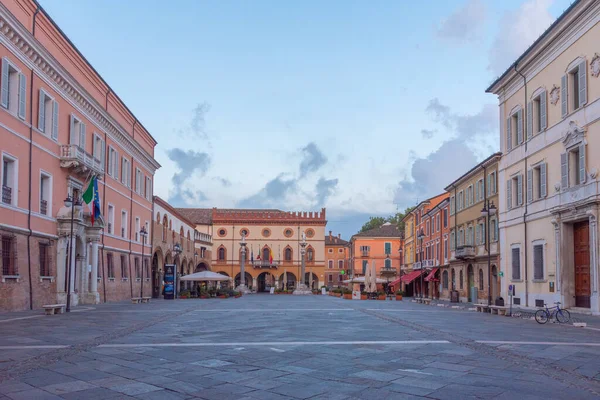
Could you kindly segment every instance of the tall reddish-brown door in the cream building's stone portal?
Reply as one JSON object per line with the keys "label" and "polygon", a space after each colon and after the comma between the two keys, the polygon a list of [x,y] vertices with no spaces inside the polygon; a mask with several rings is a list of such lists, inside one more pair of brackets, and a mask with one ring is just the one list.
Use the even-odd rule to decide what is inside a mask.
{"label": "tall reddish-brown door in the cream building's stone portal", "polygon": [[575,307],[590,308],[590,225],[588,221],[573,226],[575,252]]}

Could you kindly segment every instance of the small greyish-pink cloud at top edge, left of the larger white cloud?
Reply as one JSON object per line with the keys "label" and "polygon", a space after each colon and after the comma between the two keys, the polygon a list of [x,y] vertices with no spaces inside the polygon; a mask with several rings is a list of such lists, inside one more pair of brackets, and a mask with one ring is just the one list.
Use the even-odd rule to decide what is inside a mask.
{"label": "small greyish-pink cloud at top edge, left of the larger white cloud", "polygon": [[476,41],[486,20],[485,5],[481,0],[469,0],[442,21],[438,37],[459,43]]}

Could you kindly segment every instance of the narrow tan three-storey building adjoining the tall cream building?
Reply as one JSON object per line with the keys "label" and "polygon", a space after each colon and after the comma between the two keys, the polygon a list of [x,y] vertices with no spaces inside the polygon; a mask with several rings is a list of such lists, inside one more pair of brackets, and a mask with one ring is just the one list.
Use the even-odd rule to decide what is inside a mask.
{"label": "narrow tan three-storey building adjoining the tall cream building", "polygon": [[501,156],[492,154],[445,188],[450,195],[450,260],[441,271],[441,298],[450,299],[454,291],[461,302],[487,304],[488,293],[492,302],[499,296],[498,215],[490,215],[488,225],[482,210],[498,207]]}

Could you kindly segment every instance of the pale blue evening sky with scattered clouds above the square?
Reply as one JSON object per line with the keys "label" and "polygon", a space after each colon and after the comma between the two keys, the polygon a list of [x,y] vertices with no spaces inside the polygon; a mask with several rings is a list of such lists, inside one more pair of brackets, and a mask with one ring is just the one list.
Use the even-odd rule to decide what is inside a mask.
{"label": "pale blue evening sky with scattered clouds above the square", "polygon": [[157,140],[176,207],[349,238],[499,148],[485,89],[569,0],[40,0]]}

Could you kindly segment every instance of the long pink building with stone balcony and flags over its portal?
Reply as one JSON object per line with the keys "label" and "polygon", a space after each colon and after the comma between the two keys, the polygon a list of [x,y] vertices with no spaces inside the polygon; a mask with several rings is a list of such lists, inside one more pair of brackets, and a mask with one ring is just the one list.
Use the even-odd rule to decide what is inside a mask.
{"label": "long pink building with stone balcony and flags over its portal", "polygon": [[[138,297],[156,141],[33,0],[0,3],[0,59],[0,310],[64,303],[69,258],[73,305]],[[92,176],[103,218],[75,208],[71,236]]]}

